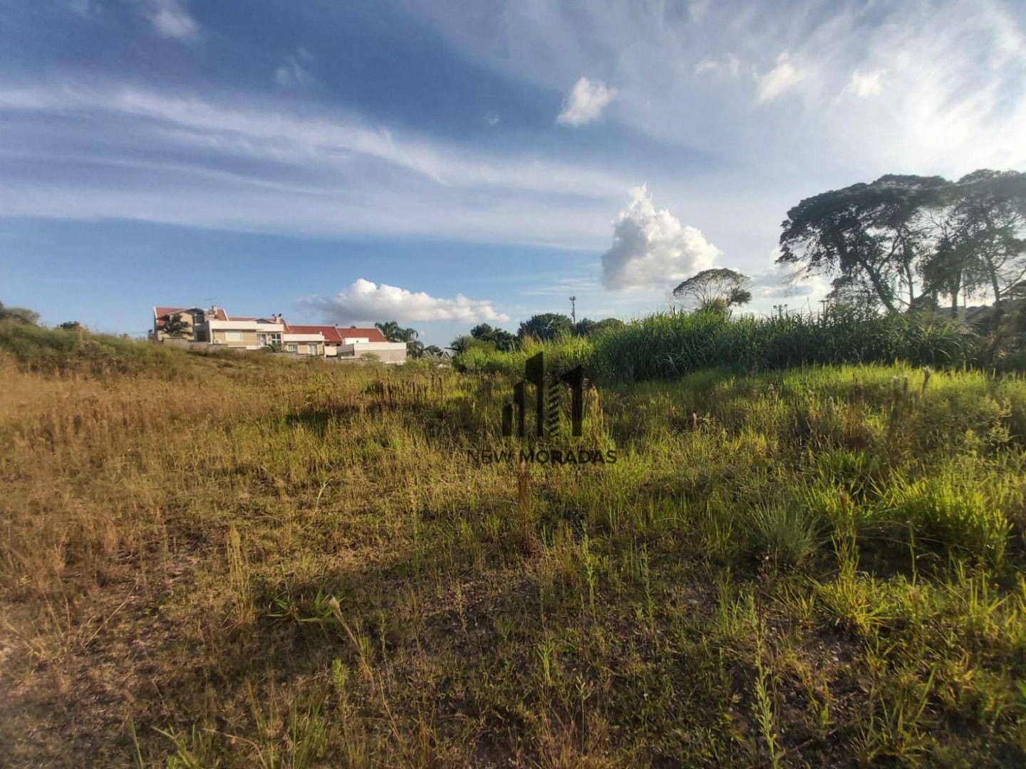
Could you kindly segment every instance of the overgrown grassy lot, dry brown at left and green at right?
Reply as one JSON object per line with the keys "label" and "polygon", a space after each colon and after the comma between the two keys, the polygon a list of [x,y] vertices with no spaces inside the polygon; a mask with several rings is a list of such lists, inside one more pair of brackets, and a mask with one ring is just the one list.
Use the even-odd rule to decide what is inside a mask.
{"label": "overgrown grassy lot, dry brown at left and green at right", "polygon": [[0,363],[5,766],[1026,761],[1022,378],[602,388],[518,477],[505,378],[121,352]]}

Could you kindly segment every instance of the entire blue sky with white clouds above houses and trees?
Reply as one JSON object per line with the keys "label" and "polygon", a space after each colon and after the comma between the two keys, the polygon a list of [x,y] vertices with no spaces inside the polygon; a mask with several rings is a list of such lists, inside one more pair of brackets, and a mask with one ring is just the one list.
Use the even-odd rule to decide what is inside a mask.
{"label": "entire blue sky with white clouds above houses and trees", "polygon": [[700,270],[750,310],[803,198],[1026,168],[1026,3],[0,0],[0,300],[447,345],[630,319]]}

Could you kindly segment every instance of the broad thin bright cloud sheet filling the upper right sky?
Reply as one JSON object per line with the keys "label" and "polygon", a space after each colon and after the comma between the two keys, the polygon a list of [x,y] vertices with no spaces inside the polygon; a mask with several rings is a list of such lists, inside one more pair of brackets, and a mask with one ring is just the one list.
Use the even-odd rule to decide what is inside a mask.
{"label": "broad thin bright cloud sheet filling the upper right sky", "polygon": [[[494,16],[435,4],[418,13],[476,63],[553,91],[600,62],[620,89],[618,121],[756,174],[785,170],[822,185],[828,175],[854,180],[866,167],[959,175],[1026,163],[1021,3],[723,0],[703,7],[695,14],[659,3],[506,0]],[[543,42],[551,55],[531,55]],[[723,51],[752,77],[711,77],[728,71]],[[871,78],[861,86],[867,98],[838,100],[856,71]],[[868,97],[879,71],[887,99]],[[788,109],[755,121],[753,103]]]}

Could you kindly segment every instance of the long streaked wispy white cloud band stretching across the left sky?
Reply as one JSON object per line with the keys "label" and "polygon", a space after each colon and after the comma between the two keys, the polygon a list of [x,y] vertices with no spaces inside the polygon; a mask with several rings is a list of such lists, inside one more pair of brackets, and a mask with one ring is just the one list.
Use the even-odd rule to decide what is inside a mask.
{"label": "long streaked wispy white cloud band stretching across the left sky", "polygon": [[[6,154],[30,153],[36,169],[0,177],[0,206],[12,215],[582,247],[601,243],[608,207],[628,186],[591,164],[267,102],[66,85],[0,88],[5,112],[18,115],[0,125]],[[72,133],[69,115],[89,119]],[[29,116],[53,126],[45,141],[17,138]]]}

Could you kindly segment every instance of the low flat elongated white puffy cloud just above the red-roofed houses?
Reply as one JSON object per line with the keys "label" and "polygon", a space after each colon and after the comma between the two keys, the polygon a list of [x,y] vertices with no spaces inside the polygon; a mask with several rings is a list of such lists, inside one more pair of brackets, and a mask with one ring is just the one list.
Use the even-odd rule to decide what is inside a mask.
{"label": "low flat elongated white puffy cloud just above the red-roofed houses", "polygon": [[487,299],[471,299],[463,294],[457,294],[452,299],[443,299],[423,291],[413,292],[364,278],[334,296],[308,297],[301,303],[320,311],[338,322],[394,320],[478,323],[509,320],[509,316],[498,312]]}

